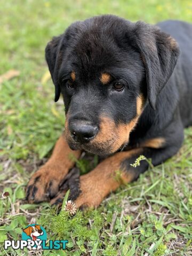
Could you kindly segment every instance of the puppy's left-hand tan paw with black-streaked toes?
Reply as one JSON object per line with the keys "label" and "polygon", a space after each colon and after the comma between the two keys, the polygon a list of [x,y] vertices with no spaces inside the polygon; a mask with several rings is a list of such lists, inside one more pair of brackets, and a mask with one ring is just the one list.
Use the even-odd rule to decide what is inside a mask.
{"label": "puppy's left-hand tan paw with black-streaked toes", "polygon": [[45,164],[29,180],[26,198],[29,203],[49,201],[59,191],[59,187],[68,170],[62,170],[57,164]]}

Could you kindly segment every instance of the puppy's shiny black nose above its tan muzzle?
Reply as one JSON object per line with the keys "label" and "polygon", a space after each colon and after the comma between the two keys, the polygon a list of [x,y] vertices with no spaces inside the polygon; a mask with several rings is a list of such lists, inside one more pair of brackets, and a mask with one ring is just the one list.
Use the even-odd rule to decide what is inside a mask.
{"label": "puppy's shiny black nose above its tan muzzle", "polygon": [[86,121],[75,121],[69,124],[69,130],[75,141],[86,143],[94,138],[98,127]]}

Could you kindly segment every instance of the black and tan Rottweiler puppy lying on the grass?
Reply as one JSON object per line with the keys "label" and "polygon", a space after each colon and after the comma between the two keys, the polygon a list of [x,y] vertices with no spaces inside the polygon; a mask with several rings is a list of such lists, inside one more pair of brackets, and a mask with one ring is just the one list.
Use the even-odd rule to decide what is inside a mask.
{"label": "black and tan Rottweiler puppy lying on the grass", "polygon": [[147,161],[130,165],[140,155],[155,166],[180,149],[183,129],[192,124],[192,25],[157,26],[102,15],[73,23],[46,46],[66,125],[51,158],[29,181],[29,202],[60,197],[74,166],[71,153],[110,155],[80,177],[80,207],[98,206],[121,183],[137,179],[148,169]]}

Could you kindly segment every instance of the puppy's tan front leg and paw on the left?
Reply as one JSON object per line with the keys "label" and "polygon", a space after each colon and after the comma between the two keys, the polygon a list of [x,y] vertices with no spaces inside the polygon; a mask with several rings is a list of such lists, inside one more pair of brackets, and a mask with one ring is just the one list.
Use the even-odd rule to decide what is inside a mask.
{"label": "puppy's tan front leg and paw on the left", "polygon": [[69,169],[74,166],[71,155],[78,158],[81,156],[81,151],[71,150],[65,136],[61,135],[55,144],[49,161],[35,172],[29,180],[27,198],[30,203],[47,201],[58,193],[59,186]]}

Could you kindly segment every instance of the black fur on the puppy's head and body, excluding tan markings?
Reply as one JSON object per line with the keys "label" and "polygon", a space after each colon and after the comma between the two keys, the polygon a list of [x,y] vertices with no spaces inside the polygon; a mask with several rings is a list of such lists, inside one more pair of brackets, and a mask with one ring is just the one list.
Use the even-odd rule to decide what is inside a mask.
{"label": "black fur on the puppy's head and body, excluding tan markings", "polygon": [[[46,46],[55,101],[61,93],[69,121],[81,119],[99,126],[99,117],[108,116],[115,124],[127,124],[135,117],[136,100],[142,94],[145,107],[124,150],[147,139],[164,138],[159,149],[143,148],[154,165],[160,164],[177,153],[183,128],[192,124],[191,42],[192,25],[182,21],[153,26],[102,15],[75,22]],[[76,79],[71,89],[67,84],[73,70]],[[101,73],[113,77],[108,85],[101,83]],[[116,81],[125,85],[121,93],[113,89]],[[99,154],[91,147],[76,144],[72,148]],[[122,165],[130,169],[137,157]],[[147,170],[144,162],[135,178]]]}

